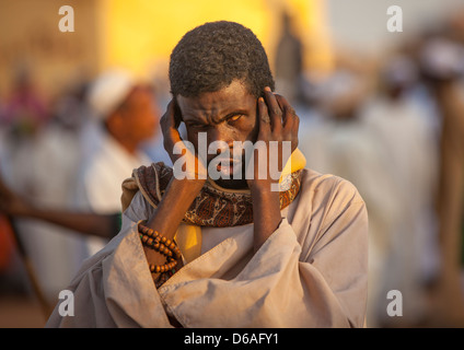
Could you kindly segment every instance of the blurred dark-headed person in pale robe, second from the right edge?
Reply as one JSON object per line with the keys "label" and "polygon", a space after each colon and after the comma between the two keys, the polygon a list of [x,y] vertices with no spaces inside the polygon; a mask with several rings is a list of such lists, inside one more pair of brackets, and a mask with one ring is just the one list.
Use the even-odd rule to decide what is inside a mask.
{"label": "blurred dark-headed person in pale robe, second from the right edge", "polygon": [[[436,124],[413,98],[417,68],[406,56],[390,57],[380,71],[380,91],[362,112],[369,132],[383,149],[383,171],[394,185],[398,217],[392,222],[385,290],[403,295],[403,317],[384,326],[418,326],[428,316],[426,287],[438,269]],[[387,300],[384,299],[386,308]]]}

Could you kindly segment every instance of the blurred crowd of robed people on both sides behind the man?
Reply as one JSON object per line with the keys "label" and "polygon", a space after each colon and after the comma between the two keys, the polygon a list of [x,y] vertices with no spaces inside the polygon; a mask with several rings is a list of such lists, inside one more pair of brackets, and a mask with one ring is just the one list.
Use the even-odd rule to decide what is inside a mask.
{"label": "blurred crowd of robed people on both sides behind the man", "polygon": [[[300,116],[306,166],[350,180],[367,202],[367,326],[464,326],[464,13],[375,65],[340,56],[328,77],[302,70],[301,43],[285,23],[277,91]],[[108,71],[46,103],[27,70],[18,73],[0,101],[1,293],[34,292],[27,256],[55,303],[114,234],[80,232],[37,211],[117,217],[132,168],[170,164],[159,130],[165,86]],[[402,316],[386,312],[391,290],[402,293]]]}

